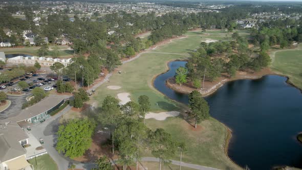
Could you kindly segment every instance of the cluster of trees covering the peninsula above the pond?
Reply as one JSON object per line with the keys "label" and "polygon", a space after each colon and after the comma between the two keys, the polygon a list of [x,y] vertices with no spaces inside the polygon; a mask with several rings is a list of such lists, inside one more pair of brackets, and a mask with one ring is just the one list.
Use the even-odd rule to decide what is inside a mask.
{"label": "cluster of trees covering the peninsula above the pond", "polygon": [[247,39],[237,32],[232,34],[232,38],[231,41],[209,44],[201,42],[201,47],[191,53],[186,64],[187,77],[180,80],[177,73],[177,83],[181,84],[188,78],[194,87],[200,88],[203,79],[213,81],[222,73],[232,77],[238,70],[258,71],[269,65],[270,57],[264,50],[257,53],[250,50]]}

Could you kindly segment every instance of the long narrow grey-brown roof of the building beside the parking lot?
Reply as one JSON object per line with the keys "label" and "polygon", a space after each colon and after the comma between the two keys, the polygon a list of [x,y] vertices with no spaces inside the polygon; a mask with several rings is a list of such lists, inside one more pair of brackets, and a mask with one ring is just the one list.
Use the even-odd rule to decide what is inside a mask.
{"label": "long narrow grey-brown roof of the building beside the parking lot", "polygon": [[69,96],[50,95],[31,107],[22,110],[19,115],[14,117],[14,119],[19,122],[37,116],[52,109],[55,107],[55,105],[59,104],[63,99],[68,97]]}

